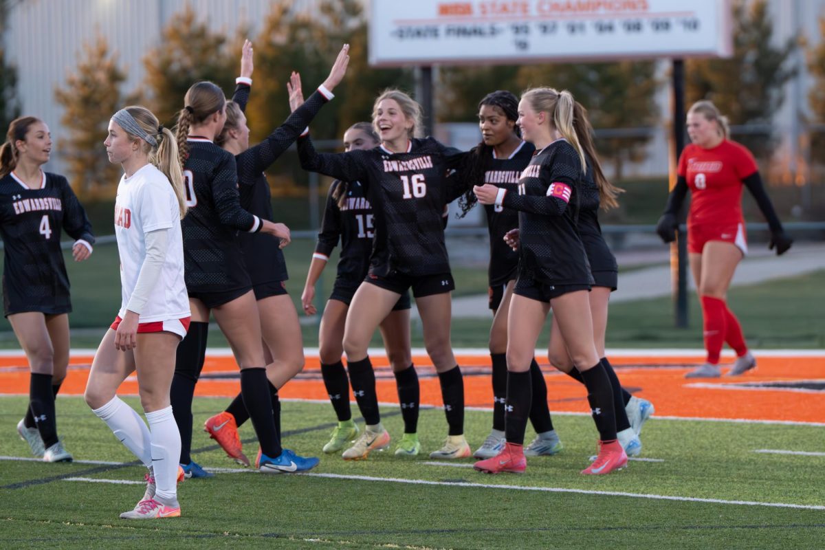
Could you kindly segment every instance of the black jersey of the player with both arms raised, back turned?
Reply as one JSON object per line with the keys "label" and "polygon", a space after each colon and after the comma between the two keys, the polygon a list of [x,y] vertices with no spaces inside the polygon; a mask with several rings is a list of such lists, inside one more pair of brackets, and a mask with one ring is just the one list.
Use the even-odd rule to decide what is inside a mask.
{"label": "black jersey of the player with both arms raised, back turned", "polygon": [[[249,100],[250,87],[239,82],[232,99],[245,110]],[[256,146],[248,148],[235,157],[238,165],[238,184],[241,206],[259,218],[273,220],[272,195],[264,170],[270,167],[278,157],[304,131],[309,122],[321,109],[326,98],[320,92],[314,92],[304,104],[295,110],[283,125],[275,129],[267,138]],[[239,233],[238,242],[243,251],[252,284],[285,281],[286,273],[284,253],[279,246],[279,239],[262,233]]]}

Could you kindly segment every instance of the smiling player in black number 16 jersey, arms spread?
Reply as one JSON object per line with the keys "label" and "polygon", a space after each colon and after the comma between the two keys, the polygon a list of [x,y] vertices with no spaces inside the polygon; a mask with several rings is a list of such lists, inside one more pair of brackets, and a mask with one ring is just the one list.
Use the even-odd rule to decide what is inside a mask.
{"label": "smiling player in black number 16 jersey, arms spread", "polygon": [[450,291],[455,288],[444,243],[444,207],[460,195],[446,173],[461,155],[436,139],[413,136],[421,106],[403,92],[388,90],[375,100],[373,125],[380,147],[369,151],[317,153],[309,139],[299,139],[301,166],[343,181],[360,181],[373,206],[375,237],[370,270],[347,312],[344,351],[353,393],[366,429],[345,459],[366,458],[389,445],[380,423],[375,373],[367,347],[375,329],[410,287],[424,331],[424,344],[441,383],[449,432],[431,458],[465,458],[464,379],[450,344]]}

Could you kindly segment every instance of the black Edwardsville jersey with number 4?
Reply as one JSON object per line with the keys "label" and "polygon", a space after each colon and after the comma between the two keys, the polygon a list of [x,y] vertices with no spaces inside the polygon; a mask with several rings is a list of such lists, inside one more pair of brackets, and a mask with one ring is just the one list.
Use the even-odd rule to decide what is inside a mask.
{"label": "black Edwardsville jersey with number 4", "polygon": [[39,189],[30,189],[13,172],[0,179],[6,315],[72,310],[61,228],[75,240],[95,242],[86,211],[64,176],[43,172]]}

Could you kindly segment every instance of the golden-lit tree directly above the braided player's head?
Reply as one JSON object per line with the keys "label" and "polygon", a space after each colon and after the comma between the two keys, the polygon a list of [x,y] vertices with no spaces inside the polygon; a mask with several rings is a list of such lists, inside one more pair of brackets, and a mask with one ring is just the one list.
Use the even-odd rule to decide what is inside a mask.
{"label": "golden-lit tree directly above the braided player's head", "polygon": [[144,57],[146,101],[164,125],[172,127],[192,84],[210,80],[231,94],[238,76],[238,54],[230,52],[226,37],[197,21],[189,3],[172,16],[158,46]]}

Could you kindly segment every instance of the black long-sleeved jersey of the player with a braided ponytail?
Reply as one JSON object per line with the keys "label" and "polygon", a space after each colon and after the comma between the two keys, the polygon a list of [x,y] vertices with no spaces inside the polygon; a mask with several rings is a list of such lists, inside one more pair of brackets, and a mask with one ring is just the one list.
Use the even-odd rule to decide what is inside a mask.
{"label": "black long-sleeved jersey of the player with a braided ponytail", "polygon": [[182,220],[186,289],[227,292],[251,287],[238,231],[257,231],[261,219],[241,208],[235,157],[209,139],[189,139],[183,165],[186,204]]}

